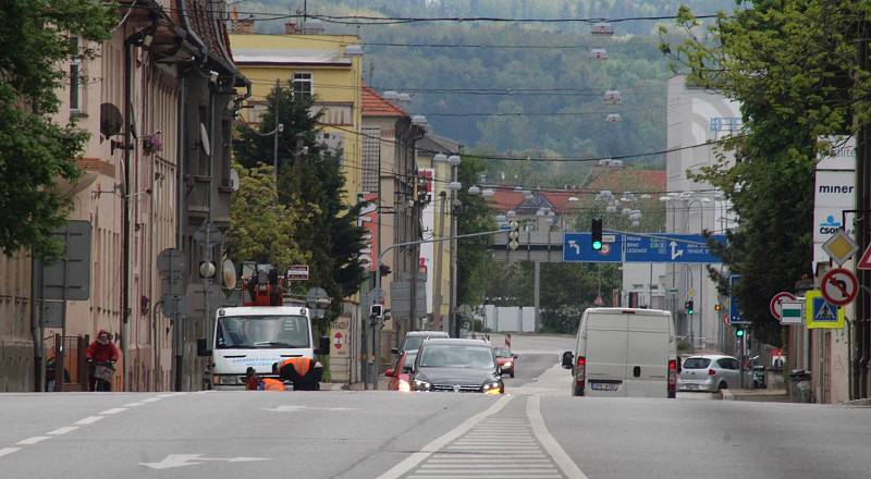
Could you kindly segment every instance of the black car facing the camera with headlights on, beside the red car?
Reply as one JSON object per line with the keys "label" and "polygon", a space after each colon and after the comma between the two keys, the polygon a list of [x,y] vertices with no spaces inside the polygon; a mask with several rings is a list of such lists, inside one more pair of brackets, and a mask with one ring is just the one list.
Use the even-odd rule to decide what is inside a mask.
{"label": "black car facing the camera with headlights on, beside the red car", "polygon": [[413,391],[505,392],[493,349],[476,340],[425,341],[417,352],[410,383]]}

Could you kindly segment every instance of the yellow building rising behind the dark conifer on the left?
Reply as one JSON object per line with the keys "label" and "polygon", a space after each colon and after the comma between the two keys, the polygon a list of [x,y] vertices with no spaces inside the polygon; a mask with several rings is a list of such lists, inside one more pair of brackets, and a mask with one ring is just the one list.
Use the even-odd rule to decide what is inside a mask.
{"label": "yellow building rising behind the dark conifer on the left", "polygon": [[[360,124],[363,49],[359,37],[324,35],[287,24],[285,35],[255,35],[246,21],[233,22],[230,45],[233,59],[250,79],[250,107],[243,116],[258,123],[267,110],[266,97],[275,81],[291,83],[294,94],[312,95],[315,109],[323,110],[323,140],[344,151],[345,200],[356,202],[363,191]],[[305,33],[305,34],[303,34]]]}

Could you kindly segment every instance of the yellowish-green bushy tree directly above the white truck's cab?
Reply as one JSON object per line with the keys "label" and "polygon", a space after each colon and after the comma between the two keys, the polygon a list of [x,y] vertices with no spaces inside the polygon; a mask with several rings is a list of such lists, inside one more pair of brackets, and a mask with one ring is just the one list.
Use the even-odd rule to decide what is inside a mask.
{"label": "yellowish-green bushy tree directly above the white truck's cab", "polygon": [[228,255],[235,263],[257,261],[284,268],[305,263],[308,255],[297,243],[300,224],[308,221],[306,208],[278,202],[272,167],[247,169],[238,163],[240,187],[230,207]]}

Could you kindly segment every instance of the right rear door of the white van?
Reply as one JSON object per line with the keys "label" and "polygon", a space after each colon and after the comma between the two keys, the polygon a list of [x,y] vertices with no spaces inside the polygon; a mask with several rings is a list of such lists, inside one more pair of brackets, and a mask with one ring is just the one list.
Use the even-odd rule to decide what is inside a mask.
{"label": "right rear door of the white van", "polygon": [[671,318],[643,311],[625,316],[628,330],[626,395],[666,397]]}

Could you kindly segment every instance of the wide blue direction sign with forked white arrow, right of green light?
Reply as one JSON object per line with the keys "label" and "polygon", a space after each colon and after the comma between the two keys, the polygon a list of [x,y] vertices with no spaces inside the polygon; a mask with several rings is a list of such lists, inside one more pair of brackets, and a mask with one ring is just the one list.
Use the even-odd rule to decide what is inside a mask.
{"label": "wide blue direction sign with forked white arrow, right of green light", "polygon": [[[652,237],[655,236],[655,237]],[[713,238],[725,243],[724,235]],[[716,263],[723,262],[711,253],[708,240],[700,234],[662,234],[639,236],[625,234],[626,262],[683,262]]]}

